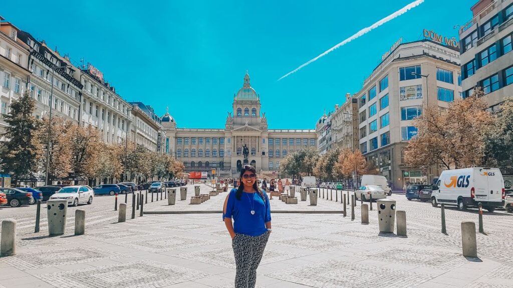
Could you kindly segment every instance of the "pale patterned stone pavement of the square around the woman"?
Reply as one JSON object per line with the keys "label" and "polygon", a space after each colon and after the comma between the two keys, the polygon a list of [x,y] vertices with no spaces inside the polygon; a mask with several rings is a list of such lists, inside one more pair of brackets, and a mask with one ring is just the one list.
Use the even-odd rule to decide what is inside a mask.
{"label": "pale patterned stone pavement of the square around the woman", "polygon": [[[202,193],[208,190],[202,185]],[[188,197],[192,194],[189,188]],[[188,198],[173,207],[162,201],[151,210],[220,210],[225,197],[200,205],[189,205]],[[513,287],[510,215],[485,213],[488,235],[478,235],[480,260],[473,260],[461,255],[458,239],[459,223],[477,222],[475,212],[447,209],[449,235],[443,235],[439,208],[404,195],[390,198],[406,210],[408,237],[380,235],[376,209],[362,225],[359,204],[354,221],[350,207],[345,218],[273,214],[257,287]],[[340,209],[334,199],[319,199],[314,209]],[[273,199],[271,205],[273,210],[312,209],[308,201],[287,205]],[[233,252],[221,214],[110,222],[88,227],[82,236],[70,231],[53,238],[46,231],[23,235],[16,255],[0,258],[0,287],[233,287]]]}

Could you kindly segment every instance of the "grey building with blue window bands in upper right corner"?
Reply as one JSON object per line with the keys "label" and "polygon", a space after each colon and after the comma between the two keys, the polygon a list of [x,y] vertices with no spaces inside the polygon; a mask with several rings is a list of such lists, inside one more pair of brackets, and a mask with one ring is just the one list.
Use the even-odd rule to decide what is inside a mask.
{"label": "grey building with blue window bands in upper right corner", "polygon": [[513,95],[513,0],[481,0],[471,10],[460,27],[463,96],[481,86],[494,110]]}

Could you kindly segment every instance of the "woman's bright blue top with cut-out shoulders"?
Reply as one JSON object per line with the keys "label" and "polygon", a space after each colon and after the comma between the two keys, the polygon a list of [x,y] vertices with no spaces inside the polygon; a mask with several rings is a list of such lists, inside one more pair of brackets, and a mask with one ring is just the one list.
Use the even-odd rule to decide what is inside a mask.
{"label": "woman's bright blue top with cut-out shoulders", "polygon": [[[243,192],[241,200],[237,200],[235,197],[236,192],[236,189],[230,191],[223,220],[225,217],[233,219],[233,231],[235,233],[249,236],[259,236],[266,233],[265,223],[271,221],[271,206],[267,194],[264,192],[264,203],[258,192]],[[251,209],[255,211],[254,215],[251,214]]]}

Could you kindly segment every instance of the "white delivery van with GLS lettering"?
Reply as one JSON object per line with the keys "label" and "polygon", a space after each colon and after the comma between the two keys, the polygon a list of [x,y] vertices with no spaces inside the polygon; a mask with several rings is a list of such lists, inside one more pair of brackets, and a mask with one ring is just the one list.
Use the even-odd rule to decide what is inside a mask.
{"label": "white delivery van with GLS lettering", "polygon": [[483,208],[493,212],[502,206],[504,194],[504,179],[498,168],[445,170],[433,187],[431,204],[433,207],[438,203],[457,205],[464,210],[481,202]]}

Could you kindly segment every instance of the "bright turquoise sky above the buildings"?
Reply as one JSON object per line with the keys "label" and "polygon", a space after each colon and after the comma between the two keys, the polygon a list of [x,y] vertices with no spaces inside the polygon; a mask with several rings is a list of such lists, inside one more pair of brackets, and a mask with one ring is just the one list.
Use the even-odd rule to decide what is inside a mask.
{"label": "bright turquoise sky above the buildings", "polygon": [[[182,128],[223,128],[246,70],[271,129],[313,129],[324,109],[360,90],[381,55],[424,28],[458,36],[477,0],[425,0],[280,81],[278,78],[413,0],[26,1],[1,15],[76,64],[104,73],[122,97]],[[27,7],[31,7],[30,9]],[[63,15],[63,16],[60,16]]]}

